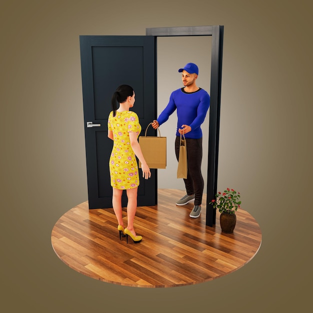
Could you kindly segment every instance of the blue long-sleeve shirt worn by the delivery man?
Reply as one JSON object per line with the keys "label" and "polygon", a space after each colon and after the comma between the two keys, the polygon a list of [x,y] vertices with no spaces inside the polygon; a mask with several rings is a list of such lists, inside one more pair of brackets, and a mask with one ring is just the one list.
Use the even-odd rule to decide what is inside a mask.
{"label": "blue long-sleeve shirt worn by the delivery man", "polygon": [[158,124],[164,123],[169,115],[177,109],[176,135],[179,136],[178,128],[186,124],[191,127],[191,131],[185,134],[186,138],[201,138],[200,126],[204,121],[209,104],[210,97],[204,89],[199,88],[194,92],[185,92],[183,88],[179,88],[170,94],[167,106],[157,118]]}

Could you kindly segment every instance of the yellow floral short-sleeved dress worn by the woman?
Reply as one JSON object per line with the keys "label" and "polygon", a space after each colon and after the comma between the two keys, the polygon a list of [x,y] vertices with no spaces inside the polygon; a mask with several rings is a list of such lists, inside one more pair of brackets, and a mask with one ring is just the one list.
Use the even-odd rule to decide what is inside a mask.
{"label": "yellow floral short-sleeved dress worn by the woman", "polygon": [[139,185],[138,164],[133,152],[129,132],[141,131],[139,118],[133,111],[109,113],[107,129],[113,132],[113,148],[109,159],[111,186],[116,189],[131,189]]}

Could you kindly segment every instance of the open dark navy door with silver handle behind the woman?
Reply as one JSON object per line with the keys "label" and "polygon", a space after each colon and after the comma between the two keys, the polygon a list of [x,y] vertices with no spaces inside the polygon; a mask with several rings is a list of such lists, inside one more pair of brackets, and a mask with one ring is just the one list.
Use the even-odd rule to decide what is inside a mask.
{"label": "open dark navy door with silver handle behind the woman", "polygon": [[[111,95],[120,84],[133,87],[136,99],[131,109],[144,134],[156,117],[154,36],[80,36],[80,57],[89,208],[107,208],[112,207],[108,160],[113,143],[107,137]],[[87,122],[99,126],[87,127]],[[140,173],[141,169],[138,206],[154,205],[156,169],[147,180]],[[122,205],[126,202],[123,194]]]}

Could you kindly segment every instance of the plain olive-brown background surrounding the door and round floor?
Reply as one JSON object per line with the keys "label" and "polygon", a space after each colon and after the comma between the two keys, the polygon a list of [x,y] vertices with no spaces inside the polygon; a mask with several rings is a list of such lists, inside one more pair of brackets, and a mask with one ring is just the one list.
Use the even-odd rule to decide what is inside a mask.
{"label": "plain olive-brown background surrounding the door and round floor", "polygon": [[[312,9],[309,0],[2,0],[3,311],[310,307]],[[174,288],[118,286],[72,270],[54,253],[50,235],[62,214],[87,199],[79,35],[218,24],[224,25],[218,188],[240,191],[242,207],[262,230],[258,253],[224,277]],[[191,57],[194,49],[183,46],[181,53]]]}

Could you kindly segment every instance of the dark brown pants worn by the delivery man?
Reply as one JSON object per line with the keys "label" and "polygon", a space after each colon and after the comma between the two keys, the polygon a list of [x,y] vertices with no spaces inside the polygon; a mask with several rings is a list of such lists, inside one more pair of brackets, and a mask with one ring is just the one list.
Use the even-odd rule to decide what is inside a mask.
{"label": "dark brown pants worn by the delivery man", "polygon": [[[204,181],[201,173],[202,162],[202,138],[191,139],[186,138],[187,147],[187,163],[188,172],[187,178],[183,179],[188,195],[194,193],[194,205],[201,205]],[[178,161],[179,156],[179,141],[180,138],[176,136],[175,139],[175,154]]]}

